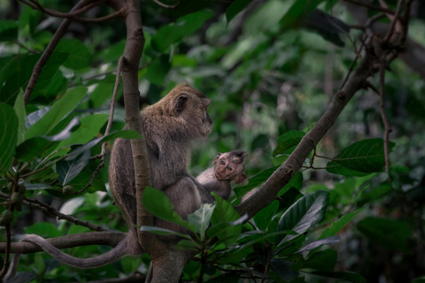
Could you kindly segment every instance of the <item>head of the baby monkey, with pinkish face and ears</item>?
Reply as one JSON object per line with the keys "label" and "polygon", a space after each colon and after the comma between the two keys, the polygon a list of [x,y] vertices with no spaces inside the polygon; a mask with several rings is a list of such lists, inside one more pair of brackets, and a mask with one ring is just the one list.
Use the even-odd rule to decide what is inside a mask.
{"label": "head of the baby monkey, with pinkish face and ears", "polygon": [[215,178],[217,180],[235,180],[236,184],[245,180],[246,175],[243,172],[245,155],[244,152],[235,151],[219,153],[213,162]]}

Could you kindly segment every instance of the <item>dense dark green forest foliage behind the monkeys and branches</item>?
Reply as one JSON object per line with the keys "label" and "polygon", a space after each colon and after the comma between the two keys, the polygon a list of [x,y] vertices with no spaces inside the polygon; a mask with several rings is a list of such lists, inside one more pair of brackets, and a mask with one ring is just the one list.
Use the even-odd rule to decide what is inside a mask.
{"label": "dense dark green forest foliage behind the monkeys and branches", "polygon": [[[351,72],[356,54],[364,52],[363,34],[379,30],[367,19],[382,11],[349,2],[356,1],[183,0],[169,9],[142,1],[146,42],[138,72],[140,107],[158,102],[182,82],[210,97],[213,132],[205,142],[194,144],[189,172],[196,176],[211,166],[218,152],[243,149],[248,153],[245,172],[250,180],[236,187],[230,199],[233,205],[240,203],[245,193],[267,180],[321,118]],[[388,9],[396,10],[396,1],[385,2]],[[74,1],[39,3],[68,12]],[[378,1],[370,3],[382,7]],[[365,88],[348,103],[305,160],[303,169],[282,188],[278,202],[261,210],[238,232],[245,240],[249,235],[244,232],[258,229],[272,233],[293,203],[324,191],[328,192],[326,215],[305,232],[303,246],[325,236],[338,235],[339,241],[312,249],[310,254],[295,254],[298,247],[281,255],[292,263],[291,268],[283,262],[269,268],[267,261],[260,259],[267,258],[273,241],[261,238],[247,249],[234,247],[226,260],[215,254],[208,263],[190,262],[183,270],[183,280],[215,282],[214,278],[221,276],[221,281],[238,282],[243,273],[231,270],[245,260],[249,264],[243,268],[260,272],[266,268],[270,278],[283,282],[425,281],[425,4],[413,1],[413,7],[405,49],[385,73],[383,107],[391,128],[388,172],[383,162],[381,97],[373,88]],[[98,18],[112,12],[101,4],[86,16]],[[0,19],[0,102],[4,117],[0,121],[0,151],[11,156],[3,155],[2,166],[12,157],[13,173],[25,166],[19,173],[25,180],[27,198],[48,203],[75,219],[126,232],[120,209],[112,205],[108,157],[103,168],[97,167],[98,159],[89,158],[101,151],[98,138],[104,134],[109,117],[115,72],[126,44],[125,25],[119,19],[73,22],[42,69],[25,107],[27,82],[62,19],[7,0],[0,0]],[[388,26],[390,19],[383,14],[376,23]],[[379,88],[379,76],[369,81]],[[16,113],[14,124],[8,118],[12,117],[10,111]],[[48,119],[43,116],[46,112],[50,112]],[[119,89],[112,133],[124,125]],[[13,131],[17,133],[12,139],[16,145],[4,142]],[[61,134],[67,134],[66,138]],[[102,142],[113,142],[118,135]],[[85,151],[88,156],[80,156],[80,169],[64,161],[77,144],[90,141],[97,142]],[[378,153],[371,156],[374,147]],[[337,163],[338,155],[348,156],[349,163]],[[375,168],[361,170],[367,163],[374,163]],[[7,184],[12,175],[5,173],[7,168],[2,170],[4,203],[0,210],[4,211],[9,204]],[[63,194],[65,185],[72,185],[75,192],[87,187],[95,171],[91,186],[81,194]],[[13,241],[23,233],[51,238],[90,231],[74,218],[65,221],[49,209],[37,210],[25,201],[23,204],[13,213]],[[4,226],[0,230],[0,240],[5,242]],[[89,257],[108,249],[83,246],[64,251]],[[252,260],[253,255],[257,260]],[[33,253],[21,256],[19,272],[25,279],[21,277],[19,282],[100,282],[119,277],[124,282],[130,274],[145,274],[149,262],[147,255],[126,256],[111,265],[79,270],[59,264],[45,253]],[[200,273],[203,276],[199,279]],[[258,273],[251,274],[254,281]]]}

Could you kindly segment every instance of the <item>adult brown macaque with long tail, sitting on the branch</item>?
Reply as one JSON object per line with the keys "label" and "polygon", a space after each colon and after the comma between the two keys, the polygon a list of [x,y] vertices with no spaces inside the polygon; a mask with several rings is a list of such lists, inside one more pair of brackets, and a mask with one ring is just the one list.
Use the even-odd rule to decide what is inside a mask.
{"label": "adult brown macaque with long tail, sitting on the branch", "polygon": [[[195,88],[183,84],[141,113],[152,185],[168,195],[174,203],[174,209],[182,217],[197,210],[201,203],[214,201],[213,196],[205,191],[187,169],[190,143],[206,138],[213,129],[213,121],[206,111],[210,102]],[[81,259],[66,255],[37,235],[27,235],[22,241],[33,242],[62,263],[79,268],[94,268],[110,264],[121,256],[142,254],[135,227],[135,170],[128,140],[118,139],[112,148],[109,183],[114,200],[128,222],[127,237],[114,249],[104,255]],[[156,220],[158,222],[160,219]],[[173,224],[161,221],[159,226],[173,229],[173,226],[169,226]],[[12,274],[16,272],[17,264],[14,265],[15,268],[10,272]]]}

